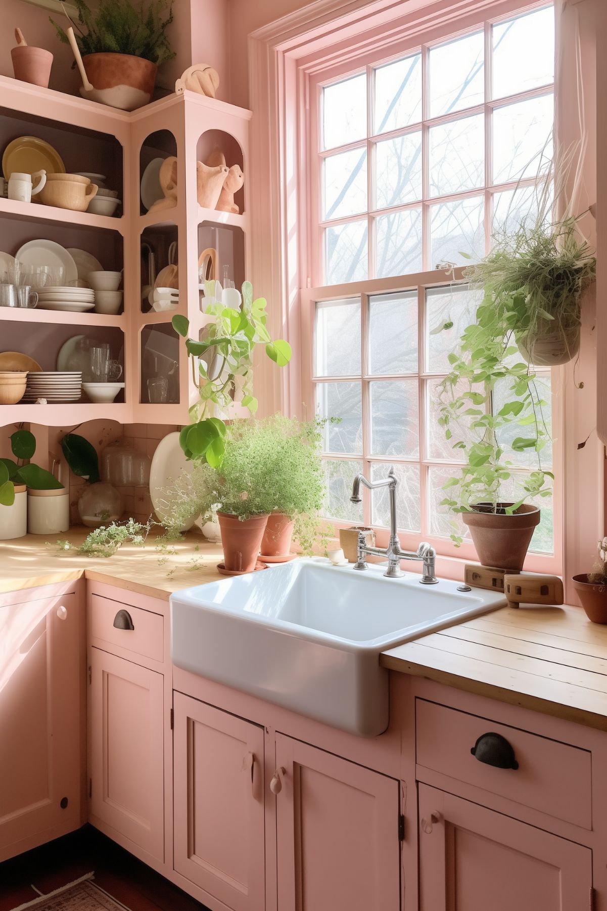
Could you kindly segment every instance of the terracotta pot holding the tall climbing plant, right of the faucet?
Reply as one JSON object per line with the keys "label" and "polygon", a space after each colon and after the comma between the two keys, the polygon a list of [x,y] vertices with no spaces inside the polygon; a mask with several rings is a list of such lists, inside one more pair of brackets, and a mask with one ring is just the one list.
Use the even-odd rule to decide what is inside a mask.
{"label": "terracotta pot holding the tall climbing plant, right of the faucet", "polygon": [[[511,503],[498,503],[498,510],[511,507]],[[540,524],[540,510],[523,503],[515,513],[507,516],[503,511],[490,512],[489,503],[478,503],[474,512],[462,513],[461,518],[470,528],[472,542],[481,565],[500,569],[522,569],[533,531]]]}

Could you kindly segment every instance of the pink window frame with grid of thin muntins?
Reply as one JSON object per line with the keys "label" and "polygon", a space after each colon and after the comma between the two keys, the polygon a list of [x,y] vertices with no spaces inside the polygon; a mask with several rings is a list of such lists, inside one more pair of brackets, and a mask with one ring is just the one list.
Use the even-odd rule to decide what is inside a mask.
{"label": "pink window frame with grid of thin muntins", "polygon": [[[301,327],[301,394],[302,401],[304,403],[304,416],[311,417],[314,413],[314,401],[315,401],[315,380],[314,380],[314,363],[313,363],[313,352],[314,352],[314,320],[315,320],[315,304],[317,301],[330,301],[330,300],[339,300],[342,298],[357,298],[360,297],[361,300],[361,309],[362,309],[362,332],[361,332],[361,374],[360,376],[352,377],[351,379],[362,384],[362,396],[363,396],[363,432],[366,430],[366,438],[369,439],[369,428],[367,425],[367,415],[368,408],[366,407],[366,399],[369,391],[369,382],[371,380],[377,379],[377,377],[369,376],[366,369],[366,311],[369,301],[369,296],[376,293],[386,293],[386,292],[397,292],[397,291],[417,291],[418,292],[418,305],[419,305],[419,321],[418,321],[418,341],[419,341],[419,353],[420,353],[420,365],[418,374],[408,374],[409,376],[415,376],[418,379],[418,394],[419,394],[419,414],[420,414],[420,457],[417,460],[417,464],[420,466],[420,497],[421,497],[421,527],[428,527],[428,490],[427,490],[427,476],[428,476],[428,466],[435,465],[446,465],[449,463],[441,462],[436,459],[428,459],[425,457],[424,444],[425,444],[425,434],[424,434],[424,424],[426,417],[425,410],[425,387],[426,381],[431,379],[434,374],[427,374],[422,372],[422,350],[425,345],[424,338],[424,324],[423,324],[423,295],[425,290],[430,287],[436,287],[439,285],[449,284],[450,278],[444,273],[437,272],[435,270],[429,270],[428,262],[428,251],[430,250],[429,236],[430,236],[430,206],[435,205],[441,201],[451,201],[451,200],[460,200],[460,199],[469,199],[473,197],[479,197],[481,194],[484,196],[484,228],[485,228],[485,244],[486,247],[489,244],[490,232],[491,232],[491,197],[494,193],[500,192],[501,190],[513,189],[516,181],[511,181],[504,184],[491,184],[491,125],[490,117],[491,111],[496,107],[506,107],[509,104],[514,102],[524,101],[531,97],[541,97],[544,95],[549,95],[553,93],[554,87],[553,84],[548,86],[535,88],[528,90],[526,92],[517,93],[509,97],[503,97],[495,101],[488,100],[490,95],[491,87],[491,72],[488,61],[491,57],[488,55],[488,46],[491,42],[491,26],[495,23],[499,23],[504,20],[510,19],[513,15],[522,15],[527,12],[531,12],[536,9],[541,9],[551,5],[547,3],[546,0],[539,0],[539,2],[531,4],[521,4],[520,0],[506,0],[506,2],[501,3],[491,3],[488,4],[485,9],[482,11],[478,8],[470,13],[470,15],[463,15],[454,22],[442,23],[439,26],[431,27],[426,31],[419,31],[415,34],[408,34],[404,39],[398,41],[397,36],[392,36],[392,40],[389,43],[389,47],[386,44],[382,46],[375,47],[372,51],[367,54],[358,54],[356,49],[352,49],[349,54],[345,54],[343,48],[340,48],[341,59],[339,63],[323,62],[319,68],[315,69],[314,67],[309,67],[307,69],[307,78],[305,79],[305,88],[304,95],[306,98],[306,105],[302,106],[303,116],[301,118],[302,122],[300,123],[300,135],[306,138],[305,141],[300,141],[300,159],[307,162],[308,167],[303,169],[303,180],[302,185],[300,186],[299,200],[300,200],[300,216],[302,220],[305,220],[308,226],[307,231],[307,242],[302,246],[300,255],[305,255],[306,257],[306,271],[308,274],[308,287],[300,292],[299,306],[300,306],[300,327]],[[422,52],[422,66],[424,67],[424,74],[426,72],[426,59],[425,57],[428,54],[428,50],[431,46],[440,45],[447,40],[452,40],[460,36],[465,36],[471,32],[480,31],[484,29],[485,36],[485,99],[481,105],[476,105],[470,108],[463,108],[454,113],[450,113],[440,118],[431,118],[431,126],[438,125],[440,123],[446,123],[452,120],[457,120],[463,117],[469,117],[474,114],[482,113],[485,118],[485,175],[484,175],[484,186],[481,188],[476,188],[472,190],[466,190],[460,193],[450,194],[443,197],[432,197],[430,198],[428,193],[428,187],[424,183],[423,187],[423,200],[421,202],[422,208],[422,224],[424,232],[424,249],[423,249],[423,263],[424,269],[418,274],[407,275],[402,277],[390,277],[388,279],[368,279],[366,281],[355,281],[343,285],[331,285],[324,286],[321,281],[322,277],[322,257],[323,257],[323,227],[324,223],[320,220],[320,172],[319,172],[319,161],[326,154],[335,154],[338,151],[346,150],[347,148],[363,148],[366,145],[368,157],[371,154],[372,144],[379,138],[385,139],[390,138],[391,136],[400,135],[401,133],[413,132],[420,130],[422,131],[422,156],[424,159],[423,174],[427,176],[428,168],[427,156],[428,156],[428,120],[426,118],[426,113],[429,111],[429,99],[427,97],[427,84],[424,76],[424,81],[422,83],[424,89],[423,97],[423,108],[422,108],[422,120],[419,123],[412,124],[407,128],[402,130],[395,130],[393,132],[380,134],[379,137],[371,135],[371,118],[372,118],[372,109],[370,103],[370,92],[372,90],[371,79],[368,78],[368,130],[367,138],[356,143],[352,143],[349,146],[331,148],[327,150],[326,153],[321,152],[319,154],[319,149],[321,148],[319,128],[320,128],[320,118],[319,118],[319,109],[320,109],[320,94],[322,87],[330,82],[338,81],[340,78],[347,78],[350,76],[357,75],[360,72],[365,70],[368,72],[372,70],[374,66],[377,66],[379,63],[389,63],[391,60],[400,59],[405,56],[412,56],[419,51],[421,48]],[[489,116],[488,116],[489,114]],[[310,141],[308,141],[310,140]],[[369,160],[369,159],[368,159]],[[368,174],[372,173],[372,169],[368,169]],[[534,183],[534,179],[526,179],[521,181],[519,186],[530,186]],[[313,191],[310,191],[310,188],[314,188]],[[302,203],[301,200],[306,200]],[[374,200],[374,188],[370,186],[370,179],[368,185],[368,202],[369,204]],[[406,210],[411,208],[418,208],[420,206],[420,201],[418,200],[415,203],[410,203],[407,205],[392,207],[388,210],[373,210],[368,206],[366,213],[362,213],[356,216],[351,216],[346,219],[336,219],[332,220],[335,223],[345,223],[347,221],[361,220],[367,217],[368,219],[368,238],[369,238],[369,267],[373,265],[373,242],[372,242],[372,224],[371,221],[376,219],[379,214],[382,214],[383,211],[394,212],[398,210]],[[371,271],[369,269],[369,271]],[[462,270],[456,270],[454,276],[456,279],[461,279]],[[535,572],[545,572],[545,573],[560,573],[562,571],[562,554],[563,554],[563,540],[562,540],[562,502],[563,502],[563,490],[562,490],[562,478],[563,478],[563,458],[562,458],[562,446],[560,445],[561,441],[561,429],[563,425],[563,401],[562,396],[556,394],[555,390],[561,385],[557,382],[557,371],[552,372],[552,435],[555,440],[555,445],[553,446],[553,466],[552,470],[554,471],[556,482],[554,485],[554,493],[552,498],[553,506],[553,515],[554,515],[554,526],[553,526],[553,552],[552,554],[540,554],[531,552],[528,555],[528,558],[525,562],[525,568]],[[395,377],[399,378],[399,377]],[[324,382],[327,382],[327,377],[322,377]],[[348,380],[347,377],[336,378],[340,381]],[[331,457],[329,454],[327,457]],[[362,461],[363,471],[365,474],[369,474],[370,465],[372,462],[378,462],[381,464],[388,463],[390,459],[388,457],[379,457],[369,455],[347,455],[347,454],[335,454],[336,458],[344,461],[353,461],[358,462]],[[410,459],[396,459],[396,462],[402,461],[406,464],[415,464],[416,460]],[[457,467],[457,463],[453,463],[454,467]],[[365,524],[369,524],[370,520],[370,500],[369,495],[366,495],[364,501],[364,520]],[[339,522],[335,521],[333,523],[335,527],[346,527],[350,523],[348,522]],[[388,540],[388,531],[382,527],[376,527],[376,535],[378,537],[379,546],[384,546]],[[460,548],[455,548],[452,542],[445,537],[433,537],[428,532],[424,532],[424,537],[430,540],[430,543],[437,548],[439,554],[439,569],[443,575],[449,576],[451,578],[460,578],[463,571],[463,561],[465,560],[476,560],[476,552],[472,547],[469,541],[464,541]],[[420,533],[410,533],[400,530],[400,539],[403,547],[405,548],[417,548],[420,540]]]}

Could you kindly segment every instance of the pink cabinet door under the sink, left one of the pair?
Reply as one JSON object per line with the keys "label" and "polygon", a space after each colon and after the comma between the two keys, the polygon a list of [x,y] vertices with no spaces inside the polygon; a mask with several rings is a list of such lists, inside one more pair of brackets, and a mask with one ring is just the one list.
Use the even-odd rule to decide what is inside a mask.
{"label": "pink cabinet door under the sink, left one of the pair", "polygon": [[174,694],[175,869],[234,911],[266,906],[264,731]]}

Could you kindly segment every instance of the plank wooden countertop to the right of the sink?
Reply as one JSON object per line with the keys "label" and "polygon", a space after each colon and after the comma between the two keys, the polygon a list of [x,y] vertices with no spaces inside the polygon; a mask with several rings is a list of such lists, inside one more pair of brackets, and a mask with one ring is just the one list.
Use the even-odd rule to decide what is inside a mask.
{"label": "plank wooden countertop to the right of the sink", "polygon": [[607,731],[607,626],[582,608],[501,608],[385,651],[380,663]]}

